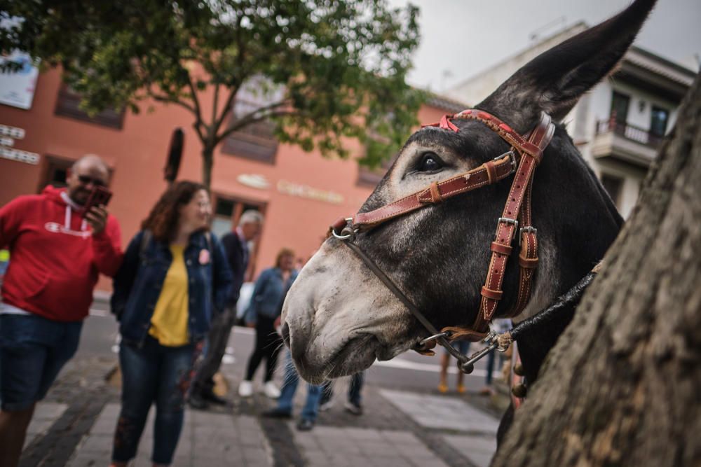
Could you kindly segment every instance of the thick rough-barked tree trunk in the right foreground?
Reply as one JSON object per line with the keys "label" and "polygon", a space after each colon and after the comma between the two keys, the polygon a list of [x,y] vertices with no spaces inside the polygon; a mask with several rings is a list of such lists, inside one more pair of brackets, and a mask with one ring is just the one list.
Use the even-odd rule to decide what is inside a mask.
{"label": "thick rough-barked tree trunk in the right foreground", "polygon": [[701,85],[493,466],[701,466]]}

